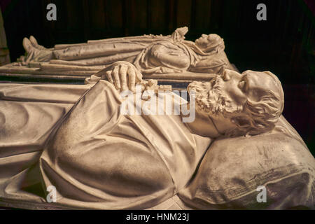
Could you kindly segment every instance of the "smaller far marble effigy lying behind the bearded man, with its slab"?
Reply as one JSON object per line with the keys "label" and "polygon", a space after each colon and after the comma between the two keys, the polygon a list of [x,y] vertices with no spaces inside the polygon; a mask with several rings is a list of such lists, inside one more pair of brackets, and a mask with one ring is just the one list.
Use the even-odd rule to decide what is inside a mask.
{"label": "smaller far marble effigy lying behind the bearded man, with its slab", "polygon": [[186,41],[187,31],[187,27],[182,27],[169,36],[108,38],[54,48],[39,45],[31,36],[23,40],[26,55],[1,67],[0,72],[11,76],[20,73],[87,78],[113,62],[125,61],[134,64],[144,78],[187,83],[209,80],[221,69],[235,70],[225,55],[223,38],[202,34],[195,42]]}

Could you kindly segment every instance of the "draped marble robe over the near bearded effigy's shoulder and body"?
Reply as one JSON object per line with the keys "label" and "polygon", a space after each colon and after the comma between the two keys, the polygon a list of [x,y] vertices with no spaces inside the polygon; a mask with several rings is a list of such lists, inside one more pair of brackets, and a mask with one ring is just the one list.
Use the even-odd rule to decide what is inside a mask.
{"label": "draped marble robe over the near bearded effigy's shoulder and body", "polygon": [[[8,85],[1,92],[12,96],[6,94],[12,89]],[[15,120],[5,119],[8,128],[14,123],[24,124],[15,129],[15,134],[29,133],[21,135],[25,137],[25,150],[10,147],[10,139],[6,146],[0,146],[0,152],[8,152],[8,148],[15,151],[0,158],[2,201],[39,204],[45,201],[46,188],[52,185],[57,189],[57,202],[50,203],[52,207],[144,209],[167,200],[186,186],[211,139],[191,134],[180,116],[121,114],[120,94],[107,81],[100,80],[92,88],[81,87],[77,92],[85,94],[72,108],[71,103],[51,100],[45,106],[54,107],[56,112],[36,106],[29,109],[27,116],[17,114]],[[22,96],[15,99],[19,97]],[[36,101],[40,100],[27,103]],[[27,110],[21,102],[12,103]],[[1,104],[1,114],[18,113],[11,108],[11,101]],[[41,116],[41,112],[46,114]],[[48,112],[56,116],[48,116]],[[13,138],[15,134],[3,135],[6,130],[0,132],[0,137]],[[35,138],[44,142],[36,150],[29,149],[36,145],[29,141],[34,140],[32,132],[46,134]],[[36,153],[41,151],[39,145],[43,147],[42,154]],[[19,167],[20,160],[23,162]],[[12,167],[15,171],[9,170]]]}

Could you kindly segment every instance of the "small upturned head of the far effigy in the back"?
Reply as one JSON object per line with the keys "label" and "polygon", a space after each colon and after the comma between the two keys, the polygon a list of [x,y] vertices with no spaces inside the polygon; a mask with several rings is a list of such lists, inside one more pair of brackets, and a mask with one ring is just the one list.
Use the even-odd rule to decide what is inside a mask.
{"label": "small upturned head of the far effigy in the back", "polygon": [[218,50],[218,48],[223,48],[224,50],[224,41],[221,36],[218,34],[202,34],[200,38],[195,40],[195,44],[203,52],[210,52],[212,50]]}

